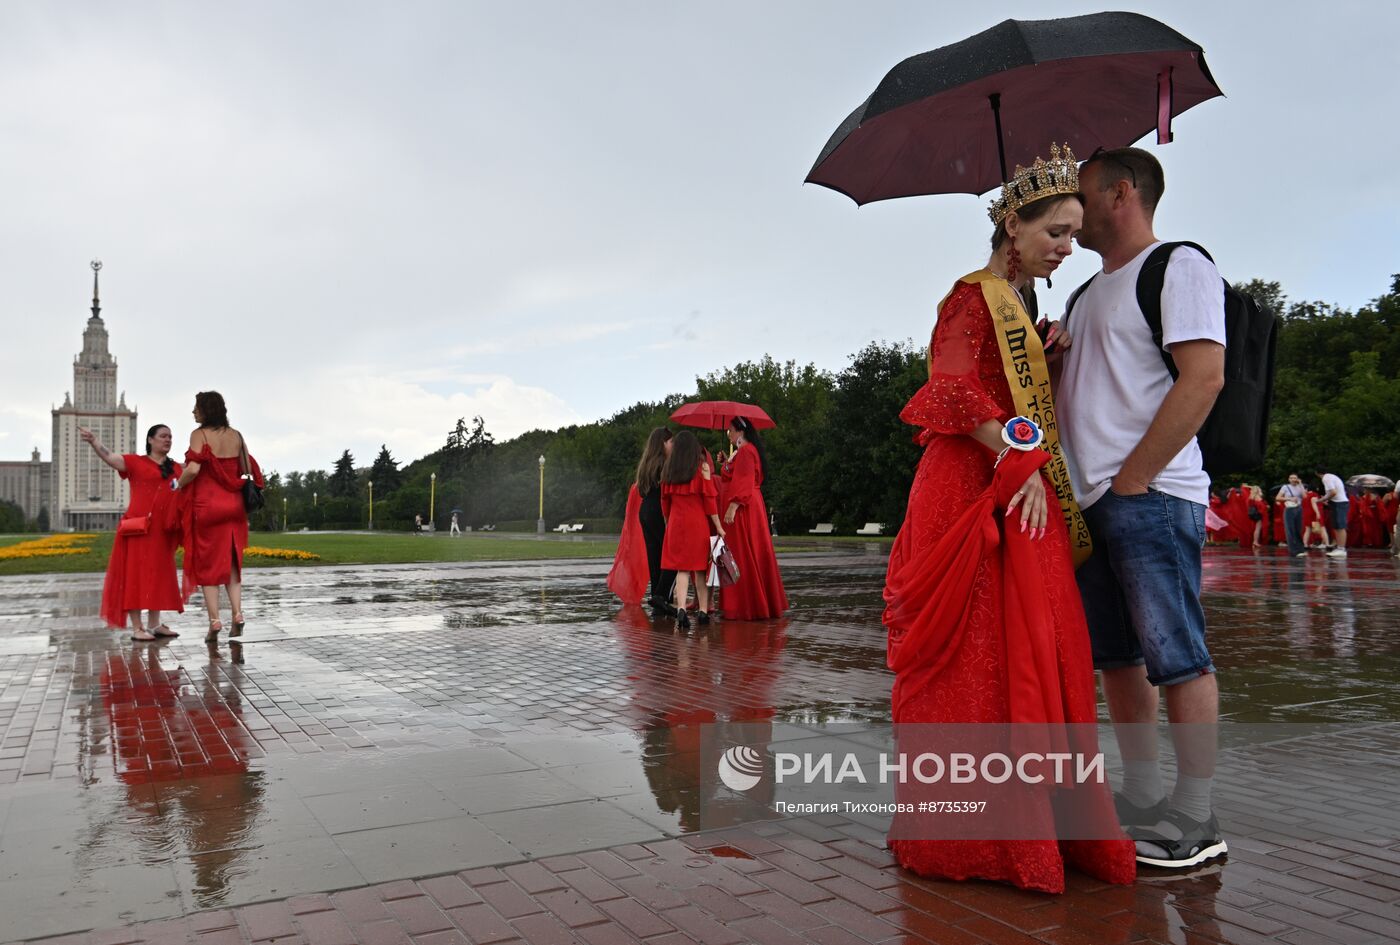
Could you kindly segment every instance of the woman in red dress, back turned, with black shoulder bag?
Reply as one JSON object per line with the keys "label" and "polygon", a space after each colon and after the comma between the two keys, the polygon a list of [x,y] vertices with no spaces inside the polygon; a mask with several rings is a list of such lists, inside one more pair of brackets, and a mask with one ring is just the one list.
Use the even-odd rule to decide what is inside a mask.
{"label": "woman in red dress, back turned, with black shoulder bag", "polygon": [[248,512],[244,510],[244,475],[260,487],[262,469],[248,454],[244,434],[228,426],[228,409],[217,391],[195,395],[195,420],[189,435],[185,472],[179,487],[190,487],[185,498],[185,596],[199,587],[209,613],[206,640],[214,641],[224,629],[218,619],[218,588],[228,591],[234,629],[244,631],[244,549],[248,547]]}

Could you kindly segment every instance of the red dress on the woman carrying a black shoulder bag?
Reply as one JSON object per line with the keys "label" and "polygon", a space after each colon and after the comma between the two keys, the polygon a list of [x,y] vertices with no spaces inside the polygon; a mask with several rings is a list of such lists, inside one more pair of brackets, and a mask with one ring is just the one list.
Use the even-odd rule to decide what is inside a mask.
{"label": "red dress on the woman carrying a black shoulder bag", "polygon": [[[185,462],[199,463],[199,476],[185,497],[185,596],[196,587],[228,584],[244,571],[248,512],[244,510],[242,462],[216,456],[209,444],[188,451]],[[248,458],[253,482],[263,484],[258,461]]]}

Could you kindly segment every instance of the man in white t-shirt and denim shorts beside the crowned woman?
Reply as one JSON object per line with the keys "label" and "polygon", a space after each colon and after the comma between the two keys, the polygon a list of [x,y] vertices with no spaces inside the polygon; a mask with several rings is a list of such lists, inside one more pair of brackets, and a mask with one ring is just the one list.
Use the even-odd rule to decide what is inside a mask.
{"label": "man in white t-shirt and denim shorts beside the crowned woman", "polygon": [[[1225,287],[1204,255],[1173,251],[1158,349],[1137,281],[1159,242],[1162,165],[1140,148],[1096,151],[1079,168],[1079,245],[1103,256],[1103,270],[1061,322],[1070,347],[1056,389],[1060,442],[1093,539],[1075,580],[1119,724],[1119,819],[1140,862],[1193,867],[1225,853],[1211,808],[1219,694],[1200,599],[1210,476],[1196,444],[1225,382]],[[1162,350],[1176,363],[1175,384]],[[1170,798],[1156,756],[1158,686],[1182,722],[1172,727]]]}

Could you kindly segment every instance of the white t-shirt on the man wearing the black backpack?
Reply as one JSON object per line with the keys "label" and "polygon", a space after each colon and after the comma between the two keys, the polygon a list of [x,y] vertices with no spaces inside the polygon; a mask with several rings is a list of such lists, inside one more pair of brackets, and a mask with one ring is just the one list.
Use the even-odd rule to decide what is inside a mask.
{"label": "white t-shirt on the man wearing the black backpack", "polygon": [[[1100,272],[1068,319],[1074,343],[1064,357],[1056,414],[1074,494],[1084,508],[1109,490],[1172,389],[1172,375],[1137,304],[1138,273],[1158,245],[1121,269]],[[1225,284],[1215,263],[1180,246],[1166,265],[1162,284],[1162,347],[1203,339],[1225,343]],[[1201,466],[1196,437],[1151,487],[1208,504],[1211,479]]]}

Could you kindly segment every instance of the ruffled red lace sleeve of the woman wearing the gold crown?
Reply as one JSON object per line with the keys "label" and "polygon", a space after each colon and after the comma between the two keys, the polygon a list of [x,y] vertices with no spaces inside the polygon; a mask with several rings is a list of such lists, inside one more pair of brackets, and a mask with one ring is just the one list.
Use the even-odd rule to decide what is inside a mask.
{"label": "ruffled red lace sleeve of the woman wearing the gold crown", "polygon": [[979,377],[977,365],[991,337],[991,314],[979,286],[960,283],[938,312],[928,349],[928,382],[899,417],[930,434],[970,433],[987,420],[1008,420]]}

